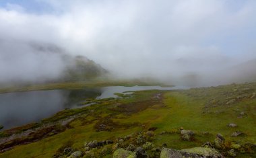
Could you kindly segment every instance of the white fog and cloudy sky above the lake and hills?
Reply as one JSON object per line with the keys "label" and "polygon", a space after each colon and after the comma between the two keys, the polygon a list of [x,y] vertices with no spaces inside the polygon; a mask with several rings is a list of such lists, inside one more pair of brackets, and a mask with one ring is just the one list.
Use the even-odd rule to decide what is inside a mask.
{"label": "white fog and cloudy sky above the lake and hills", "polygon": [[0,82],[59,77],[61,55],[35,43],[87,56],[118,78],[256,81],[255,15],[253,0],[1,1]]}

